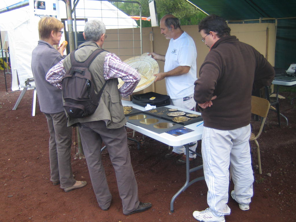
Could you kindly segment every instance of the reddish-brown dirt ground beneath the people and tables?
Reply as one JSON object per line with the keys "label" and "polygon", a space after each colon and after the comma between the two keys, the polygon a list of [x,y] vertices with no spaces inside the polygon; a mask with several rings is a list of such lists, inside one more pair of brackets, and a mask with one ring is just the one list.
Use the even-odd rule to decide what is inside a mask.
{"label": "reddish-brown dirt ground beneath the people and tables", "polygon": [[[37,104],[36,116],[32,116],[33,90],[28,90],[17,110],[12,110],[20,91],[5,90],[3,71],[0,72],[0,222],[6,221],[83,221],[83,222],[189,222],[196,221],[192,212],[207,208],[205,181],[199,181],[175,201],[175,212],[170,213],[170,200],[185,182],[185,166],[178,166],[174,160],[165,160],[168,146],[144,137],[139,133],[133,139],[140,141],[141,149],[129,141],[132,165],[139,187],[139,198],[152,202],[152,208],[143,213],[123,215],[118,194],[115,173],[108,152],[103,152],[103,163],[113,195],[108,211],[102,211],[94,196],[85,159],[75,158],[77,147],[73,143],[72,167],[77,180],[86,180],[82,189],[65,193],[50,181],[48,139],[46,118]],[[11,75],[7,74],[7,85],[11,86]],[[252,143],[254,169],[254,197],[249,211],[242,211],[229,198],[231,215],[227,222],[278,222],[296,221],[295,207],[295,103],[290,98],[295,93],[282,92],[281,113],[289,119],[286,126],[277,126],[276,113],[269,112],[265,132],[259,138],[263,174],[258,173],[257,153]],[[259,123],[254,122],[253,128]],[[130,132],[131,130],[128,129]],[[128,136],[132,137],[132,133]],[[73,130],[73,142],[75,132]],[[200,144],[198,147],[200,152]],[[200,165],[197,157],[191,167]],[[268,176],[267,174],[270,173]],[[192,177],[202,176],[202,170]],[[229,193],[233,189],[230,182]],[[294,210],[293,210],[294,209]]]}

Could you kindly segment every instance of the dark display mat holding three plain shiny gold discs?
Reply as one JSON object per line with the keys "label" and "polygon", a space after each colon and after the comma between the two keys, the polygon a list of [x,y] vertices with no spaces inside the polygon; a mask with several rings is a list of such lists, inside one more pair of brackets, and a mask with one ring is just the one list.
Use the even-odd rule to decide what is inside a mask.
{"label": "dark display mat holding three plain shiny gold discs", "polygon": [[147,115],[145,113],[141,113],[143,115],[146,115],[146,118],[145,119],[157,119],[158,122],[157,123],[173,123],[175,124],[174,126],[170,127],[170,128],[165,128],[165,129],[159,129],[159,128],[155,128],[154,125],[157,124],[157,123],[152,123],[152,124],[144,124],[144,123],[140,123],[141,120],[131,120],[129,119],[129,117],[131,117],[132,115],[130,116],[126,116],[126,120],[133,124],[133,125],[136,125],[136,126],[141,126],[142,128],[144,129],[147,129],[147,130],[150,130],[152,132],[155,132],[155,133],[165,133],[167,131],[170,131],[170,130],[173,130],[173,129],[177,129],[177,128],[180,128],[180,127],[183,127],[183,125],[181,124],[178,124],[178,123],[175,123],[175,122],[172,122],[172,121],[167,121],[167,120],[164,120],[164,119],[161,119],[161,118],[156,118],[155,116],[152,116],[152,115]]}

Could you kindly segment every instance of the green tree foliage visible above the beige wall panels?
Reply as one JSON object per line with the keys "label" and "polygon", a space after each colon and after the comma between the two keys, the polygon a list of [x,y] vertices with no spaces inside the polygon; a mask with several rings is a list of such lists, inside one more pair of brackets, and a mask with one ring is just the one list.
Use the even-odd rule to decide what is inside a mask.
{"label": "green tree foliage visible above the beige wall panels", "polygon": [[[136,0],[141,4],[142,17],[149,17],[149,2],[151,0]],[[130,2],[112,2],[118,9],[130,16],[140,16],[140,6]],[[184,0],[155,0],[158,22],[167,14],[180,19],[181,25],[198,25],[206,15]],[[139,25],[140,22],[136,21]],[[142,20],[142,27],[151,27],[151,22]]]}

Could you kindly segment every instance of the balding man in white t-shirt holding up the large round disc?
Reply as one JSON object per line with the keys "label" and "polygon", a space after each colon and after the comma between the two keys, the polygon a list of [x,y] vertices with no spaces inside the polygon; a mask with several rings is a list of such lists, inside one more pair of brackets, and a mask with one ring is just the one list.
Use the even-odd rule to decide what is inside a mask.
{"label": "balding man in white t-shirt holding up the large round disc", "polygon": [[[171,99],[171,104],[177,107],[194,110],[193,99],[194,81],[196,78],[196,47],[193,39],[180,27],[180,20],[173,15],[165,15],[160,20],[161,34],[170,39],[168,50],[164,55],[151,52],[153,59],[165,62],[164,73],[155,74],[155,82],[165,79],[165,86]],[[189,149],[195,151],[197,141],[189,144]],[[166,159],[177,158],[177,164],[186,163],[185,147],[173,147],[165,155]],[[196,158],[196,154],[189,152],[189,160]]]}

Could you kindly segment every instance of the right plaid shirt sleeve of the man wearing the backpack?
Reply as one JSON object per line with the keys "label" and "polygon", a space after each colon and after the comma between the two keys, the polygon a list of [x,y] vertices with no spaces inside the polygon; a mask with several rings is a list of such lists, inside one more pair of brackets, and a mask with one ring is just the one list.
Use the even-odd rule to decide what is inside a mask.
{"label": "right plaid shirt sleeve of the man wearing the backpack", "polygon": [[115,54],[107,53],[104,61],[104,77],[106,80],[121,78],[124,82],[118,89],[121,96],[132,94],[139,81],[140,74],[131,66],[122,62]]}

